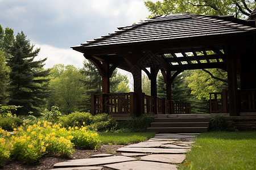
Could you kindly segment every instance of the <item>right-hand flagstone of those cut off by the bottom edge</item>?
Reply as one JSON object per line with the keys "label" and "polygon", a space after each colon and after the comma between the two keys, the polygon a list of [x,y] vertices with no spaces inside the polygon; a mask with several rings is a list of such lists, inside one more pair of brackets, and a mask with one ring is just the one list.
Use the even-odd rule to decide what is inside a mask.
{"label": "right-hand flagstone of those cut off by the bottom edge", "polygon": [[132,161],[132,162],[123,162],[116,164],[104,165],[107,168],[119,169],[119,170],[175,170],[177,169],[176,165],[166,164],[166,163],[156,163],[156,162],[147,162],[147,161]]}

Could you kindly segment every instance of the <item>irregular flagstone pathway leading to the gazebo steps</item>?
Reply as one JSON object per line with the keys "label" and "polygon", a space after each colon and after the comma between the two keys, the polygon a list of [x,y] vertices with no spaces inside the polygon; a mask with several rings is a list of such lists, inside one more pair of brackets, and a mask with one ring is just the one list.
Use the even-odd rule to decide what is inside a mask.
{"label": "irregular flagstone pathway leading to the gazebo steps", "polygon": [[93,169],[177,169],[197,134],[160,133],[148,141],[119,148],[122,156],[93,155],[88,159],[57,163],[52,170]]}

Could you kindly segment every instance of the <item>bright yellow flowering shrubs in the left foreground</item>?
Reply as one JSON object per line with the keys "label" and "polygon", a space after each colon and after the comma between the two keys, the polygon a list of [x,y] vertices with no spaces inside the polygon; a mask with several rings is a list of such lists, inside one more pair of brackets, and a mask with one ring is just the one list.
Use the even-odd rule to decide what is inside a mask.
{"label": "bright yellow flowering shrubs in the left foreground", "polygon": [[0,163],[6,159],[35,163],[42,155],[71,156],[73,146],[97,148],[98,134],[82,128],[63,128],[43,121],[14,128],[14,135],[0,129]]}

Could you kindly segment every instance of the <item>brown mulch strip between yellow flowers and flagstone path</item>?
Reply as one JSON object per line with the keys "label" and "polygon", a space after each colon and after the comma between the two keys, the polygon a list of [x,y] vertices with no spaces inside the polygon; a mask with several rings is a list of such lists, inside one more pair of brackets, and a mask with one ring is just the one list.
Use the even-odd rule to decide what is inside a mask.
{"label": "brown mulch strip between yellow flowers and flagstone path", "polygon": [[91,158],[92,155],[97,154],[121,155],[120,152],[116,152],[116,150],[121,147],[122,145],[102,145],[98,150],[80,150],[75,148],[75,152],[73,152],[71,158],[43,156],[39,162],[35,164],[23,164],[17,161],[9,161],[4,163],[0,169],[52,169],[54,164],[67,160]]}

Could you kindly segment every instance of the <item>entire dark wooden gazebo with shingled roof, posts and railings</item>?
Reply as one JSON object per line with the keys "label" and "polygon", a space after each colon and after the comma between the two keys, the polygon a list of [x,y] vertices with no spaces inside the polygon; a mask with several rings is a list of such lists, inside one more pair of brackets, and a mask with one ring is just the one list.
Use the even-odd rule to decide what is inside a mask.
{"label": "entire dark wooden gazebo with shingled roof, posts and railings", "polygon": [[[93,62],[102,76],[102,94],[92,95],[92,114],[130,117],[189,113],[189,104],[172,101],[172,82],[184,70],[212,68],[227,71],[228,91],[221,93],[220,101],[210,101],[210,112],[218,111],[214,101],[222,105],[220,112],[230,116],[256,112],[255,17],[161,15],[72,46]],[[133,75],[134,92],[110,94],[110,76],[117,67]],[[151,80],[151,96],[142,93],[142,70]],[[159,70],[166,83],[164,99],[156,92]]]}

